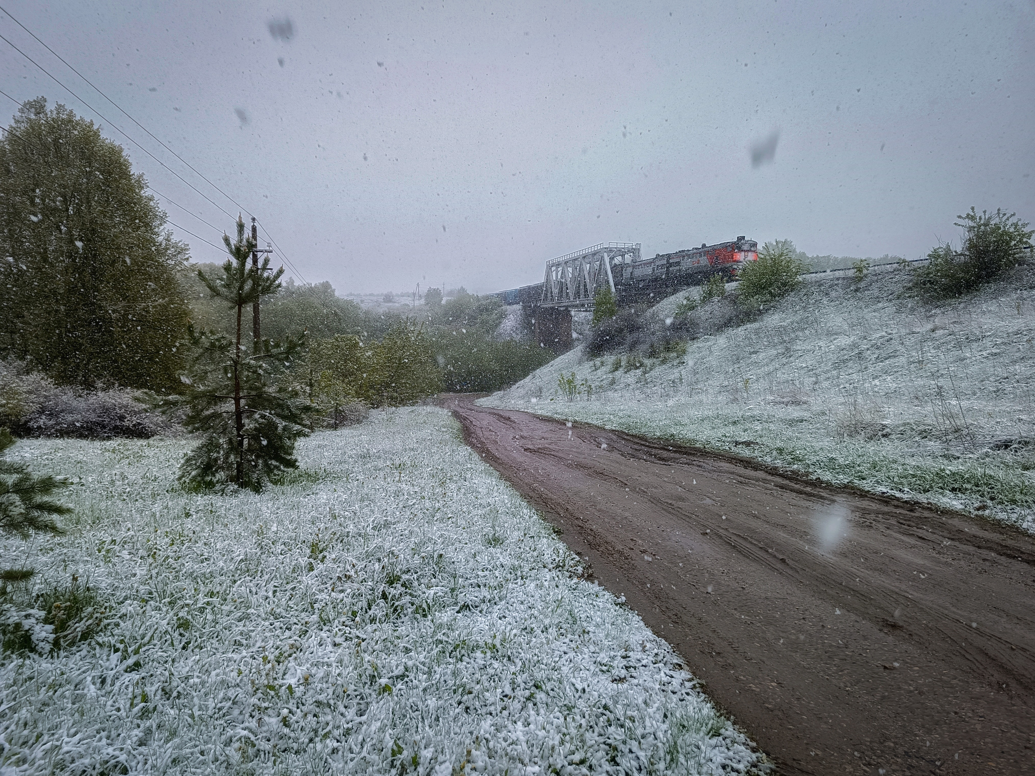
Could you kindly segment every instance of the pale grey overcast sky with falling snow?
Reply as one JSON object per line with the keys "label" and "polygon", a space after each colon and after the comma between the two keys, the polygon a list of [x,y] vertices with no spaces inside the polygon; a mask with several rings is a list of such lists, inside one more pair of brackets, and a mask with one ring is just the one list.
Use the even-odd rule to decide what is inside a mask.
{"label": "pale grey overcast sky with falling snow", "polygon": [[[339,294],[512,288],[611,240],[917,258],[971,205],[1035,221],[1032,2],[0,5]],[[0,41],[4,91],[97,121],[233,229],[115,127],[233,202],[2,14],[0,34],[111,121]]]}

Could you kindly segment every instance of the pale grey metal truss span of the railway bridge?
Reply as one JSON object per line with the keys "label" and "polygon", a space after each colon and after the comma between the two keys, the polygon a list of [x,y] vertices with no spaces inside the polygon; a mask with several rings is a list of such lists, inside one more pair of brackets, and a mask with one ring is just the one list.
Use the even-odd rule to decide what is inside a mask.
{"label": "pale grey metal truss span of the railway bridge", "polygon": [[[615,270],[640,261],[639,242],[601,242],[551,259],[542,281],[542,307],[591,308],[600,289],[615,293]],[[622,273],[618,272],[619,279]]]}

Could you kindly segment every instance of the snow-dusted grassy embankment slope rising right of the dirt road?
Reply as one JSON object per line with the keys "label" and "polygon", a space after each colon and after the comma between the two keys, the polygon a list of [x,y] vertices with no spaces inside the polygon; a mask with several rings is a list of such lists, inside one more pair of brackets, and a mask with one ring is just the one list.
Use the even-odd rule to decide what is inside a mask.
{"label": "snow-dusted grassy embankment slope rising right of the dirt road", "polygon": [[[952,304],[901,270],[804,283],[685,356],[578,348],[481,401],[679,441],[1035,531],[1035,271]],[[686,293],[655,308],[672,316]],[[707,305],[706,305],[707,308]],[[558,377],[593,390],[564,400]]]}

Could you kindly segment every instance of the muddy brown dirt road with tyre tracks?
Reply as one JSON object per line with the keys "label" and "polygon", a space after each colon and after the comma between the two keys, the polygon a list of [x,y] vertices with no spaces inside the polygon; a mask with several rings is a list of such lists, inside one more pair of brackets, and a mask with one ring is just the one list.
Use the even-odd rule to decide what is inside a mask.
{"label": "muddy brown dirt road with tyre tracks", "polygon": [[472,401],[468,443],[779,773],[1035,773],[1031,537]]}

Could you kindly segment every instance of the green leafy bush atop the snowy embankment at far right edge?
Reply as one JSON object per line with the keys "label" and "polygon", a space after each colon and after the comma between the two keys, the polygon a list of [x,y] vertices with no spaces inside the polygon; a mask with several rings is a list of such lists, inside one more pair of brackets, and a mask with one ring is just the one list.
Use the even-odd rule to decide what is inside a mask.
{"label": "green leafy bush atop the snowy embankment at far right edge", "polygon": [[978,215],[972,207],[956,217],[956,226],[965,231],[959,250],[948,243],[934,248],[927,265],[913,271],[910,288],[914,293],[944,299],[974,292],[1017,266],[1035,234],[1016,213],[998,208]]}

